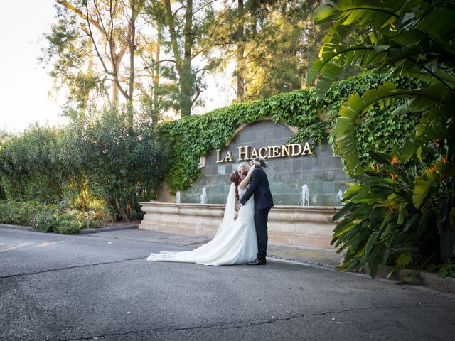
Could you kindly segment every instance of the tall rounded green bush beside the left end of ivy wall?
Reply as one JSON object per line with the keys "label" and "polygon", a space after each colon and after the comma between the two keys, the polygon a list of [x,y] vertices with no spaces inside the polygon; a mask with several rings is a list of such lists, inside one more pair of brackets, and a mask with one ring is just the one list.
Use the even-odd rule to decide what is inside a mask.
{"label": "tall rounded green bush beside the left end of ivy wall", "polygon": [[72,126],[73,155],[80,158],[89,187],[124,221],[141,217],[139,200],[154,199],[163,179],[166,146],[157,138],[155,124],[149,112],[134,113],[127,105],[87,114]]}

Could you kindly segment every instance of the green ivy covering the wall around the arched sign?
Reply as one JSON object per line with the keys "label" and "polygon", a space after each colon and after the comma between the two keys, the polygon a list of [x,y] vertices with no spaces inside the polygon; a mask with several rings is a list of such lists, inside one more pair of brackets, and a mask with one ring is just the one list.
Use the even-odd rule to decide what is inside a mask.
{"label": "green ivy covering the wall around the arched sign", "polygon": [[[201,174],[198,171],[200,156],[207,155],[213,148],[223,148],[240,125],[251,124],[267,117],[272,117],[276,123],[296,127],[298,131],[291,138],[293,143],[311,141],[311,144],[319,145],[324,139],[328,139],[333,146],[331,128],[335,124],[341,104],[350,94],[362,94],[386,80],[395,82],[400,87],[407,87],[415,82],[405,77],[366,73],[334,83],[321,102],[316,102],[315,90],[309,88],[277,94],[255,102],[233,104],[207,114],[183,117],[162,124],[161,137],[172,146],[168,185],[173,193],[188,189]],[[387,108],[373,107],[362,121],[358,122],[358,148],[363,163],[370,162],[369,150],[386,150],[390,148],[390,144],[398,146],[414,131],[419,117],[397,116],[393,112],[397,105],[399,103]],[[333,148],[336,151],[334,146]]]}

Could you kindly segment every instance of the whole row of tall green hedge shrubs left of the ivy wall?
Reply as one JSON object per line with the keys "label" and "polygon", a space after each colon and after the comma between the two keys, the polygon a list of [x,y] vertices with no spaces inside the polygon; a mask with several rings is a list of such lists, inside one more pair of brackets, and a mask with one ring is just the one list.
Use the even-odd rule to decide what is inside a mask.
{"label": "whole row of tall green hedge shrubs left of the ivy wall", "polygon": [[91,217],[141,217],[138,202],[154,198],[167,164],[156,115],[147,108],[86,112],[69,126],[31,126],[6,139],[0,144],[6,199],[77,209],[89,225]]}

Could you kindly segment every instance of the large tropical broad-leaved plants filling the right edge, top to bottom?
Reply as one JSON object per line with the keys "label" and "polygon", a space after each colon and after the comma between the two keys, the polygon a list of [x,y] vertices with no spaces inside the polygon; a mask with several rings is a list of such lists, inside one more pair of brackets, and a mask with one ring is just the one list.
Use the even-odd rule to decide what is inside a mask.
{"label": "large tropical broad-leaved plants filling the right edge, top to bottom", "polygon": [[[440,1],[329,2],[315,12],[316,23],[333,21],[309,75],[319,75],[322,98],[349,65],[373,72],[414,77],[413,89],[385,82],[353,94],[339,112],[336,144],[358,184],[348,191],[348,205],[333,242],[346,249],[345,269],[378,264],[395,255],[395,269],[422,251],[424,236],[439,234],[441,259],[455,256],[455,3]],[[356,121],[373,105],[407,102],[397,113],[419,112],[421,123],[404,146],[391,154],[375,153],[375,169],[360,163]],[[380,222],[378,224],[378,222]]]}

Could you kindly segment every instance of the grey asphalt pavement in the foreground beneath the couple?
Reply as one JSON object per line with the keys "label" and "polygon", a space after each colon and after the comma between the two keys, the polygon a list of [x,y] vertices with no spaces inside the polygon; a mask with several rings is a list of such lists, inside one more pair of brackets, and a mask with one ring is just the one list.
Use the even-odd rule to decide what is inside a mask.
{"label": "grey asphalt pavement in the foreground beneath the couple", "polygon": [[[455,297],[287,261],[145,261],[204,239],[0,229],[0,340],[453,340]],[[271,251],[274,249],[271,247]],[[334,259],[336,261],[336,259]]]}

